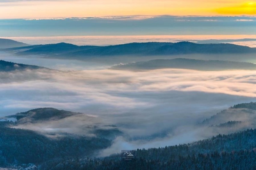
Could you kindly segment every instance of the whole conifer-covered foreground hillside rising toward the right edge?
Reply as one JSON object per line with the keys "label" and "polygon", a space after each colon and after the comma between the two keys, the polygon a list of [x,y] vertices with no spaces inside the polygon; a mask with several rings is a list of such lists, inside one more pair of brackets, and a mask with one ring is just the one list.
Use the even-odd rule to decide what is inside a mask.
{"label": "whole conifer-covered foreground hillside rising toward the right edge", "polygon": [[40,169],[256,169],[256,129],[218,135],[192,144],[131,151],[132,160],[121,154],[102,159],[50,160]]}

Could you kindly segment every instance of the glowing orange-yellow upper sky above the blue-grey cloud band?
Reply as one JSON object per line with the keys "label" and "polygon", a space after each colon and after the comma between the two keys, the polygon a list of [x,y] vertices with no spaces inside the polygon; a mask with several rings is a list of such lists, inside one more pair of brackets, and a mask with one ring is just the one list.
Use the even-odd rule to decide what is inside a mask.
{"label": "glowing orange-yellow upper sky above the blue-grey cloud band", "polygon": [[256,16],[256,1],[244,0],[0,0],[0,18],[197,15]]}

